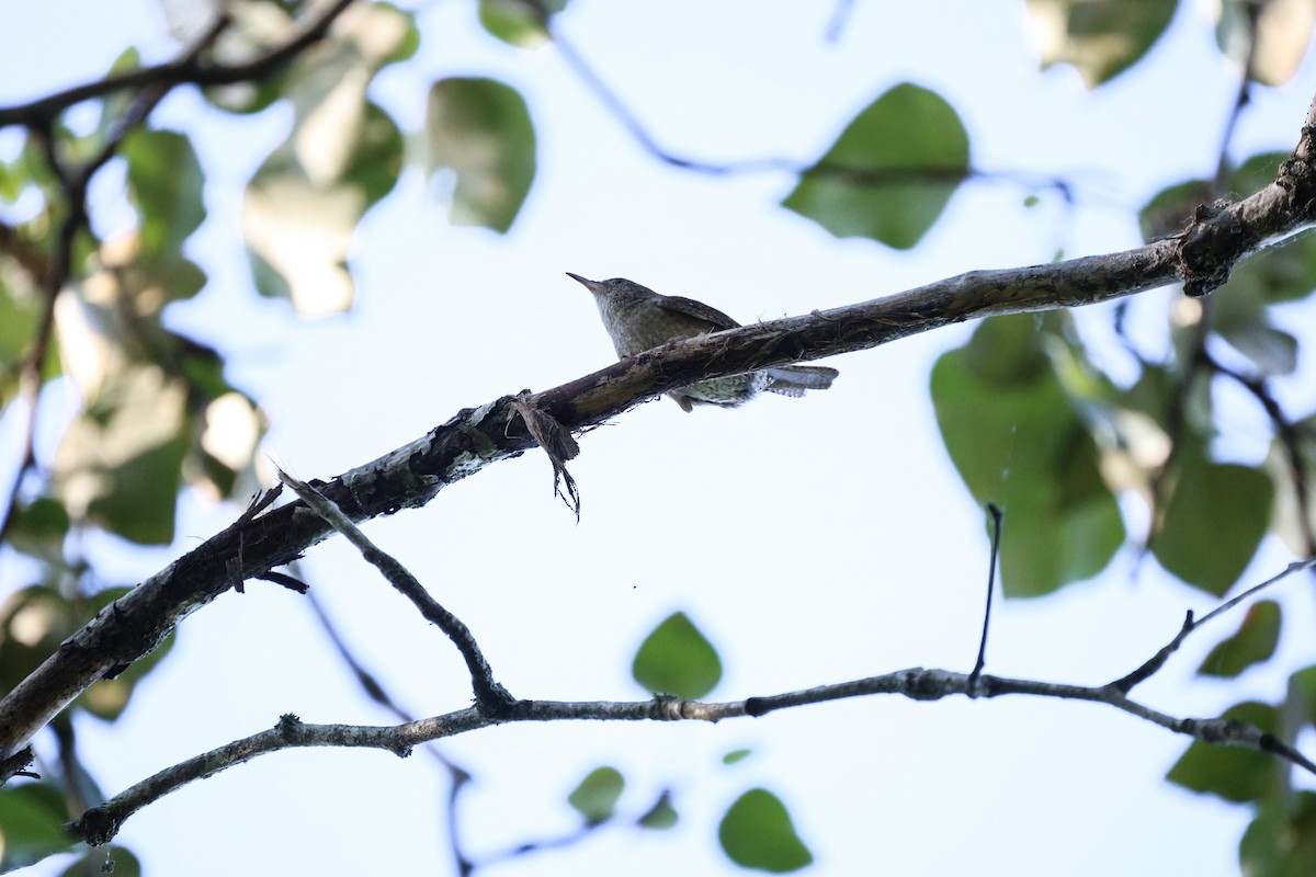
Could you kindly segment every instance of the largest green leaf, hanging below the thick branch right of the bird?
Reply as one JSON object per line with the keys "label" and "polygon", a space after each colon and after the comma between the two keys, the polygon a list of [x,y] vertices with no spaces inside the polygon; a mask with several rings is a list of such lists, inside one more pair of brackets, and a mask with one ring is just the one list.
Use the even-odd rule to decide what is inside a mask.
{"label": "largest green leaf, hanging below the thick branch right of the bird", "polygon": [[979,505],[1005,511],[1001,586],[1012,597],[1095,576],[1124,543],[1090,427],[1045,351],[1062,320],[992,317],[932,369],[950,459]]}

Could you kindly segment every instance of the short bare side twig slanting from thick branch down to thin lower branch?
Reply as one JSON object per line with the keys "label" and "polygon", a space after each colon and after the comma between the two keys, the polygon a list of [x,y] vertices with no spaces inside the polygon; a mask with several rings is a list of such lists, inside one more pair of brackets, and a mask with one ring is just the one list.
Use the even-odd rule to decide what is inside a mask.
{"label": "short bare side twig slanting from thick branch down to thin lower branch", "polygon": [[516,698],[503,685],[494,678],[494,671],[484,660],[479,644],[471,630],[453,613],[443,609],[434,600],[416,576],[401,565],[396,557],[380,551],[366,534],[328,497],[316,488],[299,481],[287,472],[279,471],[279,480],[296,493],[303,502],[325,519],[329,526],[346,536],[347,542],[357,546],[361,556],[383,573],[393,588],[399,590],[420,611],[421,617],[432,625],[437,625],[453,644],[462,653],[466,667],[471,673],[471,688],[475,690],[475,702],[482,711],[490,715],[500,715],[516,703]]}

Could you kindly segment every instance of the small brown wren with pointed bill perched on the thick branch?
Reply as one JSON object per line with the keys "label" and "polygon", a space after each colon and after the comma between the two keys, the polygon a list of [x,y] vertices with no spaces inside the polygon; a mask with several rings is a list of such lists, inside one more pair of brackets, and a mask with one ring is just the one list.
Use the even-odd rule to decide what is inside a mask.
{"label": "small brown wren with pointed bill perched on the thick branch", "polygon": [[[594,293],[603,327],[612,335],[612,346],[622,359],[674,338],[692,338],[740,326],[721,310],[701,301],[659,296],[630,280],[586,280],[570,271],[567,276]],[[808,389],[826,389],[837,375],[838,371],[825,366],[779,366],[699,381],[667,394],[687,412],[695,405],[734,408],[765,389],[782,396],[804,396]]]}

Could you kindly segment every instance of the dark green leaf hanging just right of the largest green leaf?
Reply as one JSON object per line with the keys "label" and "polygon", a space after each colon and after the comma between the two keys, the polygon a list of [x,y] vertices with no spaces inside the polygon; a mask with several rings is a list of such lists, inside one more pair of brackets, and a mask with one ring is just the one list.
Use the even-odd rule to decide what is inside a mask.
{"label": "dark green leaf hanging just right of the largest green leaf", "polygon": [[1273,497],[1265,471],[1212,463],[1200,442],[1184,443],[1152,554],[1174,576],[1220,597],[1266,535]]}

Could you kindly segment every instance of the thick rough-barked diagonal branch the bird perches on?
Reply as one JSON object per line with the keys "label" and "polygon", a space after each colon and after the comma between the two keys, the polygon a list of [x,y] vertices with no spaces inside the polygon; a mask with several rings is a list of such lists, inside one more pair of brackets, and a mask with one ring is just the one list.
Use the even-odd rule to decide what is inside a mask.
{"label": "thick rough-barked diagonal branch the bird perches on", "polygon": [[[1316,112],[1316,107],[1313,107]],[[1316,121],[1275,183],[1199,217],[1174,238],[1101,256],[969,273],[884,298],[671,342],[529,400],[583,433],[644,400],[700,380],[867,350],[899,338],[994,314],[1112,301],[1175,279],[1205,292],[1228,266],[1313,220]],[[490,463],[536,447],[512,397],[465,409],[446,423],[320,488],[353,521],[428,504]],[[303,555],[333,531],[303,502],[234,523],[116,600],[0,699],[0,757],[114,667],[150,652],[188,614],[247,579]]]}

